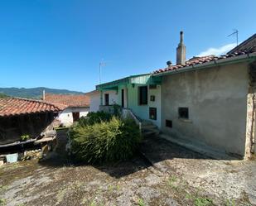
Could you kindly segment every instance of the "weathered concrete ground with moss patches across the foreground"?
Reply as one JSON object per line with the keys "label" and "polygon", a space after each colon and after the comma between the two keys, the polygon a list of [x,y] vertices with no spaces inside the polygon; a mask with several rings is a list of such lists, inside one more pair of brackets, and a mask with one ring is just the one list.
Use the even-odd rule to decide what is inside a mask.
{"label": "weathered concrete ground with moss patches across the foreground", "polygon": [[256,163],[210,160],[147,138],[133,160],[74,165],[53,153],[0,167],[0,205],[256,205]]}

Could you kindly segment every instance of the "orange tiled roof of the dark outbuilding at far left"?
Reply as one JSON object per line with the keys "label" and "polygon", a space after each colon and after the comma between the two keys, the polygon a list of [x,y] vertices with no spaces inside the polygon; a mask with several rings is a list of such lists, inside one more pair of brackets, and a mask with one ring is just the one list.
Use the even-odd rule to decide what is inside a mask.
{"label": "orange tiled roof of the dark outbuilding at far left", "polygon": [[29,113],[59,112],[61,108],[51,103],[27,98],[0,98],[0,117]]}

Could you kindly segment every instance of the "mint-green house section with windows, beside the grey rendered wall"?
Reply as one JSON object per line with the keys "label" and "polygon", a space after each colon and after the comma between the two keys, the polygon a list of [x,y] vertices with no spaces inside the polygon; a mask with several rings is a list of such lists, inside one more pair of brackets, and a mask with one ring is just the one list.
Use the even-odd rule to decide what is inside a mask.
{"label": "mint-green house section with windows, beside the grey rendered wall", "polygon": [[99,110],[118,104],[138,118],[161,127],[161,82],[151,74],[133,75],[106,84],[99,84]]}

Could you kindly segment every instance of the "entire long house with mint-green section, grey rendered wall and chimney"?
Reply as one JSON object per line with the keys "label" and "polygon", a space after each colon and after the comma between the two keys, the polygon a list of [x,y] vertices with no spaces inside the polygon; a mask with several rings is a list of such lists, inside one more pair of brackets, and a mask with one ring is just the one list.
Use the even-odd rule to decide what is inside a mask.
{"label": "entire long house with mint-green section, grey rendered wall and chimney", "polygon": [[152,74],[99,84],[96,89],[99,108],[118,103],[157,125],[170,141],[247,159],[256,152],[255,81],[255,50],[186,60],[181,32],[176,65],[167,61],[166,68]]}

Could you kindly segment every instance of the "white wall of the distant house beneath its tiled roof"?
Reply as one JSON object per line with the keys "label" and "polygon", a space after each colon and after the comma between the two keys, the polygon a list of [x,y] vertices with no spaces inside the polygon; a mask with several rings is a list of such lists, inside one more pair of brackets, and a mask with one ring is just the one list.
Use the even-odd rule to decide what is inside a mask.
{"label": "white wall of the distant house beneath its tiled roof", "polygon": [[66,108],[59,113],[57,119],[60,120],[61,124],[63,124],[65,127],[70,127],[73,124],[72,113],[80,113],[80,117],[86,117],[86,115],[89,113],[89,108]]}

